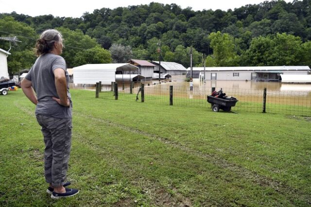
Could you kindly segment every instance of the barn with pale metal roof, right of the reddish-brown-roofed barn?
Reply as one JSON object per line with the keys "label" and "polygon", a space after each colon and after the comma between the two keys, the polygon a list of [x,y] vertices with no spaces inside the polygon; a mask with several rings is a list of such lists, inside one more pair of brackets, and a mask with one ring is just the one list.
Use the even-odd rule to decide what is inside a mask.
{"label": "barn with pale metal roof, right of the reddish-brown-roofed barn", "polygon": [[[159,73],[159,61],[151,61],[156,65],[155,72]],[[171,75],[184,75],[187,69],[179,63],[161,62],[161,73],[169,73]]]}

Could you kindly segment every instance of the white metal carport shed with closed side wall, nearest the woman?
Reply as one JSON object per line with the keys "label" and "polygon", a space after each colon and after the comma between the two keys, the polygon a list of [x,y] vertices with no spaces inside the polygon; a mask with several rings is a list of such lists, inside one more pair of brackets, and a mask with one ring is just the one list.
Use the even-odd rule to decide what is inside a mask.
{"label": "white metal carport shed with closed side wall, nearest the woman", "polygon": [[73,68],[73,83],[96,84],[101,81],[103,85],[110,85],[116,82],[116,74],[126,72],[138,74],[138,67],[129,63],[86,64]]}

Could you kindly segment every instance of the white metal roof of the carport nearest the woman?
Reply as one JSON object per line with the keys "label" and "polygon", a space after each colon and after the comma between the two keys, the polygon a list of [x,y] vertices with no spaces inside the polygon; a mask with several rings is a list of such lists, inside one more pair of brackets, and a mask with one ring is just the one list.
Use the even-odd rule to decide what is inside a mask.
{"label": "white metal roof of the carport nearest the woman", "polygon": [[76,69],[115,69],[115,71],[122,70],[137,70],[138,67],[129,63],[108,63],[108,64],[86,64],[73,68]]}

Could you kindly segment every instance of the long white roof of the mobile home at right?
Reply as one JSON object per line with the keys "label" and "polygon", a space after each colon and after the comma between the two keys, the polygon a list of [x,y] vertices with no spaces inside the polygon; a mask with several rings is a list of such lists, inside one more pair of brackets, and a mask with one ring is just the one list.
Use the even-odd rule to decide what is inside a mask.
{"label": "long white roof of the mobile home at right", "polygon": [[[190,70],[188,68],[187,70]],[[204,71],[204,67],[193,67],[193,71]],[[309,66],[258,66],[258,67],[206,67],[206,71],[270,71],[270,70],[310,70]]]}

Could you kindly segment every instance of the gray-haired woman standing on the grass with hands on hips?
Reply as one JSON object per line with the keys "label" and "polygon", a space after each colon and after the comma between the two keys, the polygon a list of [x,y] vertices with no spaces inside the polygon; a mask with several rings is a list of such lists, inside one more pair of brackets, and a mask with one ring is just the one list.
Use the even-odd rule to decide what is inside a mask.
{"label": "gray-haired woman standing on the grass with hands on hips", "polygon": [[69,74],[60,54],[63,39],[57,30],[46,30],[36,41],[38,58],[21,88],[26,97],[36,105],[35,116],[44,137],[44,174],[50,184],[47,192],[58,199],[79,193],[68,189],[65,183],[71,148],[72,102],[69,93]]}

